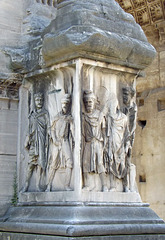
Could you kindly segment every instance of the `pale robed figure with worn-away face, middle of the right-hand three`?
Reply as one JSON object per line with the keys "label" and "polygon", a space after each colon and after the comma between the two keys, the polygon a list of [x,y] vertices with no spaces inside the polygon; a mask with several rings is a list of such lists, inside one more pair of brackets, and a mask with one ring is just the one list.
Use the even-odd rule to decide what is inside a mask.
{"label": "pale robed figure with worn-away face, middle of the right-hand three", "polygon": [[130,136],[127,116],[119,110],[116,98],[109,104],[107,115],[107,138],[107,171],[110,172],[110,191],[116,191],[116,178],[122,179],[123,191],[126,191],[126,155],[130,147]]}

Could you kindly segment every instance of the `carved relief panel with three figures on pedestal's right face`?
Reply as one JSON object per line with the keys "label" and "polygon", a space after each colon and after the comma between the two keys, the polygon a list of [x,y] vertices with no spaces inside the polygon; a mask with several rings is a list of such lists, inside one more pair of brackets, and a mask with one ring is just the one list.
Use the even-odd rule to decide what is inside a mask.
{"label": "carved relief panel with three figures on pedestal's right face", "polygon": [[137,106],[134,79],[105,68],[84,68],[83,191],[135,191],[131,163]]}

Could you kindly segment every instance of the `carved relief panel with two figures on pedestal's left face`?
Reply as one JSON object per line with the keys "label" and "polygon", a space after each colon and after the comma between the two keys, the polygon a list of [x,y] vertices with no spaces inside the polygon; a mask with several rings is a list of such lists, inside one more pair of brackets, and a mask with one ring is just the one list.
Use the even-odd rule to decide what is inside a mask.
{"label": "carved relief panel with two figures on pedestal's left face", "polygon": [[63,69],[25,82],[22,193],[73,190],[72,74]]}

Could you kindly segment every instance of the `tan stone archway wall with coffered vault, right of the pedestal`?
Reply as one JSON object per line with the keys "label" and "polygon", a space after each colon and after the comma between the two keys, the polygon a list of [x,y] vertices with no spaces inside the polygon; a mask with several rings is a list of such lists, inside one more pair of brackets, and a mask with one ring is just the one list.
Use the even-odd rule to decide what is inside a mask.
{"label": "tan stone archway wall with coffered vault, right of the pedestal", "polygon": [[116,0],[143,28],[157,56],[137,80],[138,123],[133,151],[144,202],[165,220],[165,6],[163,0]]}

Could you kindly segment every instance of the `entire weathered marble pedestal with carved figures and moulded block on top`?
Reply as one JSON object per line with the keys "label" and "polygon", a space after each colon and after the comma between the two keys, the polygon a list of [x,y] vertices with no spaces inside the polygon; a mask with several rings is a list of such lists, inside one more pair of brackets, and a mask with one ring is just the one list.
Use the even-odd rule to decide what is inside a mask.
{"label": "entire weathered marble pedestal with carved figures and moulded block on top", "polygon": [[[73,239],[104,239],[104,236],[119,237],[123,234],[141,235],[141,239],[145,239],[144,234],[148,234],[148,238],[150,234],[155,234],[155,239],[159,239],[159,234],[164,237],[164,222],[148,206],[141,204],[134,184],[135,171],[131,174],[136,95],[132,94],[129,101],[125,101],[123,95],[123,89],[135,88],[139,70],[149,65],[155,50],[133,18],[113,0],[64,0],[58,2],[57,8],[57,17],[41,34],[42,38],[39,29],[36,32],[39,38],[33,34],[34,24],[29,34],[32,34],[29,45],[18,51],[9,51],[13,69],[27,74],[20,91],[18,206],[1,219],[1,230],[10,232],[2,234],[2,237],[17,237],[11,232],[21,231]],[[84,101],[86,90],[95,97]],[[44,125],[34,114],[36,121],[31,127],[31,113],[39,108],[35,102],[38,93],[44,95],[40,113],[46,109],[49,121],[44,121]],[[67,106],[61,105],[66,94],[72,99],[71,117],[64,111]],[[61,112],[66,124],[55,129],[54,122]],[[117,124],[118,120],[120,124]],[[83,134],[85,121],[89,127],[86,128],[88,134]],[[74,141],[69,137],[71,122]],[[31,129],[33,151],[30,142],[29,149],[25,148],[26,135]],[[57,136],[59,132],[66,133],[59,134],[62,141]],[[48,135],[50,141],[46,145]],[[58,144],[61,147],[58,154],[54,154],[52,147]],[[119,145],[120,153],[116,150]],[[38,152],[36,146],[40,146]],[[43,154],[47,148],[48,158]],[[68,148],[71,151],[66,151]],[[37,184],[41,173],[33,171],[24,191],[30,156],[35,169],[43,155],[45,167],[42,170],[45,174],[40,181],[41,189]],[[60,160],[51,162],[53,156]],[[95,166],[85,171],[85,160]],[[58,162],[60,167],[56,166]],[[53,180],[49,179],[48,166],[57,169]],[[85,189],[86,173],[88,189]],[[113,188],[111,176],[116,183]],[[66,179],[69,179],[67,188]],[[26,234],[24,237],[28,238]]]}

